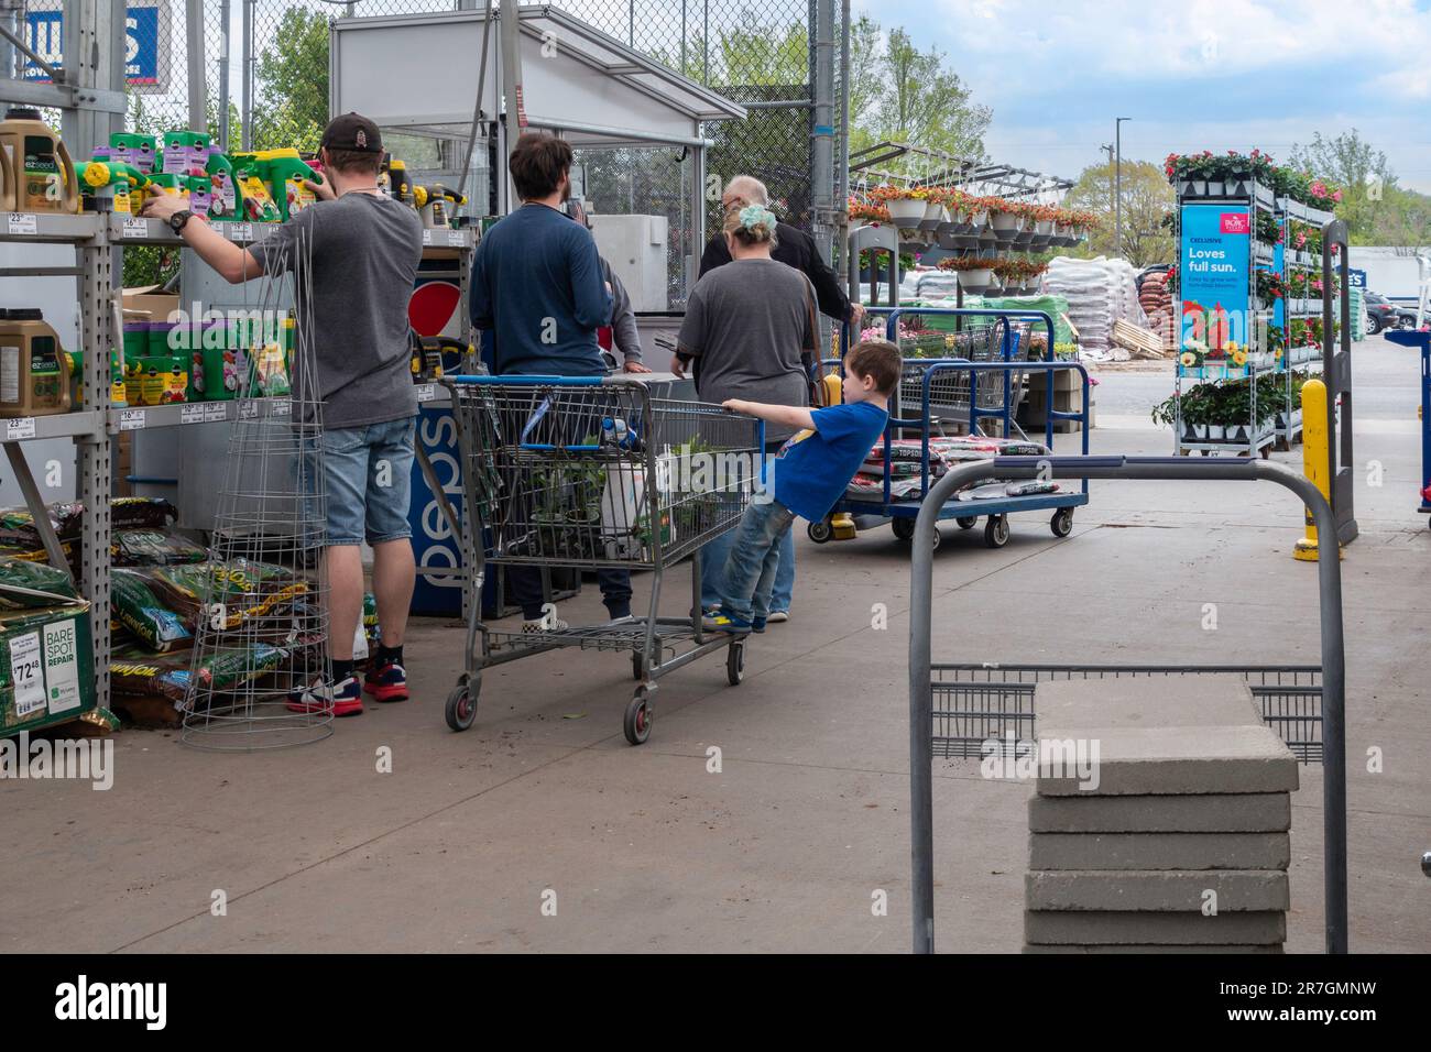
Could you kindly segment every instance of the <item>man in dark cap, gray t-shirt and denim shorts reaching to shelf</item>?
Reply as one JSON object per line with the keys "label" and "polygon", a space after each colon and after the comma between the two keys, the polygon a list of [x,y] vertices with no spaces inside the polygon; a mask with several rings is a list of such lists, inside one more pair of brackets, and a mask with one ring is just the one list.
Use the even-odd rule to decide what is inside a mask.
{"label": "man in dark cap, gray t-shirt and denim shorts reaching to shelf", "polygon": [[[326,495],[323,564],[328,577],[328,654],[332,676],[295,691],[295,711],[356,716],[366,688],[378,701],[404,701],[402,640],[415,565],[408,502],[414,459],[408,299],[422,259],[422,222],[378,189],[382,136],[356,113],[329,122],[322,142],[319,198],[266,239],[243,249],[226,240],[176,195],[153,198],[143,215],[165,219],[185,243],[232,283],[292,272],[299,325],[312,346],[298,356],[295,394],[321,399]],[[266,319],[268,321],[268,319]],[[308,376],[302,368],[312,365]],[[373,551],[372,587],[382,644],[366,680],[353,676],[362,615],[362,544]]]}

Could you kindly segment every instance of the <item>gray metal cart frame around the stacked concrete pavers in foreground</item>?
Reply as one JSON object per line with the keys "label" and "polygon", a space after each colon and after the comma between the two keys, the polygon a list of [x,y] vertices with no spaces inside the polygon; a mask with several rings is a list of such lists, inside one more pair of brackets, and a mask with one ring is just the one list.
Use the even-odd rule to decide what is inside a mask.
{"label": "gray metal cart frame around the stacked concrete pavers in foreground", "polygon": [[[913,863],[913,935],[914,952],[934,950],[934,804],[932,757],[936,751],[934,700],[950,694],[950,680],[936,681],[934,673],[953,670],[957,681],[972,666],[934,666],[930,657],[933,628],[933,532],[936,510],[959,487],[985,478],[1036,478],[1040,472],[1052,472],[1053,478],[1082,479],[1165,479],[1165,481],[1269,481],[1286,487],[1296,494],[1311,512],[1321,537],[1335,537],[1337,524],[1331,505],[1309,479],[1281,464],[1252,458],[1225,458],[1219,461],[1193,461],[1163,457],[999,457],[992,461],[962,464],[934,484],[919,518],[914,521],[914,558],[910,568],[910,637],[909,637],[909,770],[910,770],[910,852]],[[1325,554],[1325,552],[1324,552]],[[1304,759],[1321,753],[1322,812],[1324,812],[1324,880],[1327,915],[1327,952],[1347,952],[1347,716],[1345,716],[1345,647],[1342,640],[1341,564],[1337,558],[1318,560],[1318,585],[1321,593],[1321,644],[1322,663],[1319,670],[1309,667],[1288,668],[1238,668],[1248,676],[1254,693],[1259,696],[1264,719],[1284,734],[1289,727],[1296,734],[1309,734],[1317,726],[1317,701],[1321,703],[1321,744],[1314,749],[1311,740],[1301,749]],[[982,684],[969,684],[963,691],[963,704],[982,704],[990,721],[1000,720],[1002,708],[1010,700],[1025,704],[1015,708],[1013,719],[1033,719],[1033,684],[1040,678],[1058,676],[1112,676],[1112,674],[1168,674],[1189,676],[1203,673],[1226,673],[1225,666],[1213,667],[1155,667],[1128,666],[1012,666],[990,670],[999,673],[997,681],[990,678]],[[1005,673],[1015,671],[1019,680],[1007,687]],[[1317,686],[1319,673],[1319,688]],[[1258,677],[1258,678],[1254,678]],[[1284,678],[1286,677],[1286,678]],[[1271,681],[1269,681],[1271,680]],[[1259,690],[1261,688],[1261,690]],[[1292,708],[1292,719],[1268,719],[1268,711],[1278,706]],[[944,729],[944,747],[950,737],[957,743],[967,739],[973,724],[973,713],[954,714],[963,720],[960,731],[950,734]],[[944,713],[943,719],[950,714]],[[1289,741],[1294,750],[1298,741]]]}

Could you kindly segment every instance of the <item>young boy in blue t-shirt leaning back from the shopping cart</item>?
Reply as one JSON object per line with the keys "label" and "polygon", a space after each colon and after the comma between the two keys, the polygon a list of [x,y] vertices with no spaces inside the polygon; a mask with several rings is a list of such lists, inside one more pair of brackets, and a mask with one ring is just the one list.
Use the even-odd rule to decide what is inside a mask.
{"label": "young boy in blue t-shirt leaning back from the shopping cart", "polygon": [[796,515],[817,522],[830,514],[850,479],[884,434],[887,404],[900,376],[899,348],[883,339],[857,344],[844,358],[844,405],[809,409],[731,398],[723,405],[771,424],[806,428],[771,464],[774,497],[757,494],[726,561],[720,613],[707,628],[764,631],[780,562],[780,541]]}

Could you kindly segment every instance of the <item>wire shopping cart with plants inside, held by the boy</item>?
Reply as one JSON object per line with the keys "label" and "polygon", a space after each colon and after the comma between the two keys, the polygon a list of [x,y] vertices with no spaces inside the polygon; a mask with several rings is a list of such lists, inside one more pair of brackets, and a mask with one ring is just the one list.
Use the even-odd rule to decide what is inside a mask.
{"label": "wire shopping cart with plants inside, held by the boy", "polygon": [[[726,650],[731,686],[744,637],[701,628],[700,548],[733,528],[758,488],[764,425],[717,405],[651,398],[637,381],[600,376],[449,376],[477,571],[465,670],[446,703],[452,730],[477,719],[482,670],[561,647],[627,651],[638,681],[622,727],[651,733],[657,680]],[[660,617],[665,567],[691,557],[690,617]],[[532,631],[482,624],[482,568],[564,565],[651,570],[645,617]]]}

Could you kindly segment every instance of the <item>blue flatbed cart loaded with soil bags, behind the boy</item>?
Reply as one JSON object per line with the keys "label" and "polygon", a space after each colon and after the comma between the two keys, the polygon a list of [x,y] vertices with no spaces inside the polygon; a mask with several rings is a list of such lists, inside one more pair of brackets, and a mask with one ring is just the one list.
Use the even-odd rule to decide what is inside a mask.
{"label": "blue flatbed cart loaded with soil bags, behind the boy", "polygon": [[[899,311],[890,313],[890,332],[893,333],[894,325],[897,322]],[[1053,348],[1053,319],[1045,312],[1015,312],[1015,311],[979,311],[979,309],[959,309],[959,311],[919,311],[919,313],[942,313],[942,315],[963,315],[963,316],[993,316],[993,318],[1035,318],[1043,322],[1049,333],[1049,355],[1052,356]],[[1006,336],[1007,339],[1007,336]],[[1007,358],[1007,346],[1005,356]],[[932,392],[940,386],[939,376],[956,376],[959,374],[967,374],[967,418],[966,424],[970,435],[980,435],[979,424],[985,418],[997,418],[1003,424],[1003,437],[1009,437],[1015,429],[1013,424],[1013,374],[1016,372],[1047,372],[1049,374],[1049,389],[1052,391],[1052,375],[1062,369],[1076,369],[1083,378],[1083,408],[1078,412],[1056,411],[1052,405],[1045,417],[1045,445],[1052,452],[1053,449],[1053,425],[1060,419],[1076,419],[1082,424],[1082,454],[1086,457],[1089,452],[1089,376],[1088,369],[1083,368],[1082,362],[1060,362],[1060,361],[992,361],[992,362],[970,362],[959,358],[949,359],[914,359],[917,368],[922,371],[920,378],[920,399],[919,399],[919,417],[890,417],[887,427],[884,428],[884,479],[880,492],[871,494],[867,500],[859,500],[853,497],[843,498],[833,508],[830,518],[837,514],[849,514],[854,518],[857,528],[869,528],[876,524],[887,521],[890,530],[902,541],[907,541],[914,535],[914,520],[924,504],[924,497],[929,494],[936,477],[930,472],[930,449],[929,442],[932,438],[932,429],[934,427],[934,417],[932,412]],[[1000,384],[985,385],[980,384],[980,378],[990,376],[1002,379]],[[989,388],[1003,389],[1003,399],[997,406],[980,405],[982,392]],[[913,406],[912,406],[913,408]],[[900,412],[907,412],[907,409],[899,409]],[[917,432],[920,439],[920,472],[919,472],[919,495],[896,500],[892,494],[893,487],[893,458],[890,454],[894,438],[900,432]],[[990,459],[993,455],[990,455]],[[913,477],[910,477],[913,478]],[[1053,531],[1055,537],[1068,537],[1073,531],[1073,508],[1088,504],[1088,479],[1082,479],[1079,490],[1068,492],[1047,492],[1047,494],[1029,494],[1023,497],[1002,497],[989,500],[949,500],[944,501],[936,518],[939,521],[953,520],[962,530],[972,530],[979,524],[979,518],[985,518],[985,544],[990,548],[1002,548],[1009,542],[1009,515],[1016,515],[1029,511],[1053,511],[1049,520],[1049,528]],[[816,544],[823,544],[833,535],[833,528],[830,518],[823,522],[811,522],[807,527],[810,540]],[[934,547],[939,547],[940,534],[934,531]]]}

